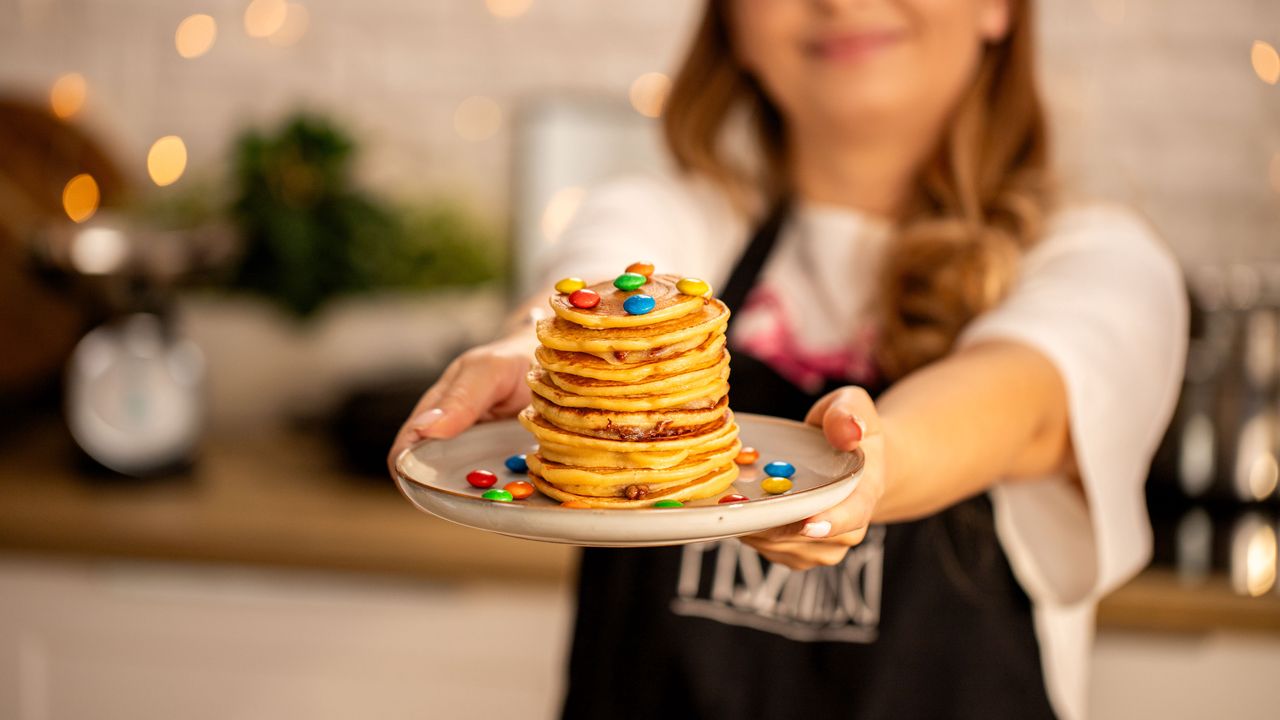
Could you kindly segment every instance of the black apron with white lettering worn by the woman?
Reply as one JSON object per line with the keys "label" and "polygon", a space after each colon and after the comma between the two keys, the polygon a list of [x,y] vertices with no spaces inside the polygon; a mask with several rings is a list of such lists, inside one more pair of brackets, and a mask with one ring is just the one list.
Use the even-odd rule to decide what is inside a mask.
{"label": "black apron with white lettering worn by the woman", "polygon": [[[785,218],[773,211],[735,265],[731,311]],[[731,363],[744,413],[804,419],[847,384],[808,395],[745,352]],[[873,527],[842,564],[803,573],[736,539],[586,548],[567,680],[566,719],[1053,717],[986,496]]]}

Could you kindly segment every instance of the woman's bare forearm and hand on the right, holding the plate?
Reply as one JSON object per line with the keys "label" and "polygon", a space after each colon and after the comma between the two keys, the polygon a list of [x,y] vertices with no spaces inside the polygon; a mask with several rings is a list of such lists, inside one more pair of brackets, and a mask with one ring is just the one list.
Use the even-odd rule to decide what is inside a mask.
{"label": "woman's bare forearm and hand on the right, holding the plate", "polygon": [[833,447],[860,447],[867,464],[844,502],[744,538],[801,570],[838,562],[873,521],[931,515],[997,480],[1042,477],[1070,461],[1062,378],[1018,342],[959,350],[895,383],[878,405],[863,388],[841,388],[814,404],[806,421]]}

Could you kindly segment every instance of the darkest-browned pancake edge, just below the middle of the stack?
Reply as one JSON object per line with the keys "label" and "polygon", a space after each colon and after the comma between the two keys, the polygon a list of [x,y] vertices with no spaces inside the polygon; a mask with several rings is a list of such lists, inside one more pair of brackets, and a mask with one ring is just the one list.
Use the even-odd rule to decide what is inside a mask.
{"label": "darkest-browned pancake edge, just below the middle of the stack", "polygon": [[563,407],[535,395],[530,400],[538,415],[549,424],[570,433],[604,439],[643,441],[687,434],[721,419],[728,407],[728,396],[712,407],[696,410],[645,410],[618,413],[588,407]]}

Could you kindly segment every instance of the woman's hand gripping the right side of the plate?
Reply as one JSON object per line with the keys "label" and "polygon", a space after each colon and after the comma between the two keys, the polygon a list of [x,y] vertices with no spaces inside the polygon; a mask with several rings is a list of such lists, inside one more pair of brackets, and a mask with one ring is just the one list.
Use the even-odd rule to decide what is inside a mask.
{"label": "woman's hand gripping the right side of the plate", "polygon": [[867,464],[854,492],[835,507],[742,538],[772,562],[794,570],[842,561],[849,548],[867,537],[876,503],[884,493],[884,434],[867,391],[849,386],[827,393],[809,410],[805,423],[820,427],[836,450],[861,447]]}

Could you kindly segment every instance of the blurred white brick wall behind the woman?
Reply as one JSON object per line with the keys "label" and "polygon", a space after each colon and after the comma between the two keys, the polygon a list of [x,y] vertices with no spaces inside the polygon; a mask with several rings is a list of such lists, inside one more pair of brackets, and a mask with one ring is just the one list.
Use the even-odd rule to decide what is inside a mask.
{"label": "blurred white brick wall behind the woman", "polygon": [[[63,72],[90,85],[83,122],[143,173],[147,145],[183,136],[193,169],[234,131],[296,105],[335,111],[365,140],[365,177],[399,195],[443,191],[498,217],[508,206],[509,123],[468,142],[470,95],[508,111],[553,94],[626,96],[678,59],[698,3],[532,0],[498,20],[479,0],[305,0],[294,47],[244,35],[244,0],[0,0],[0,90],[42,96]],[[1147,211],[1188,264],[1280,259],[1280,86],[1249,68],[1280,46],[1271,0],[1053,0],[1039,4],[1044,77],[1066,178]],[[183,60],[173,31],[219,23]],[[1119,24],[1101,17],[1123,14]],[[507,118],[511,119],[509,115]]]}

